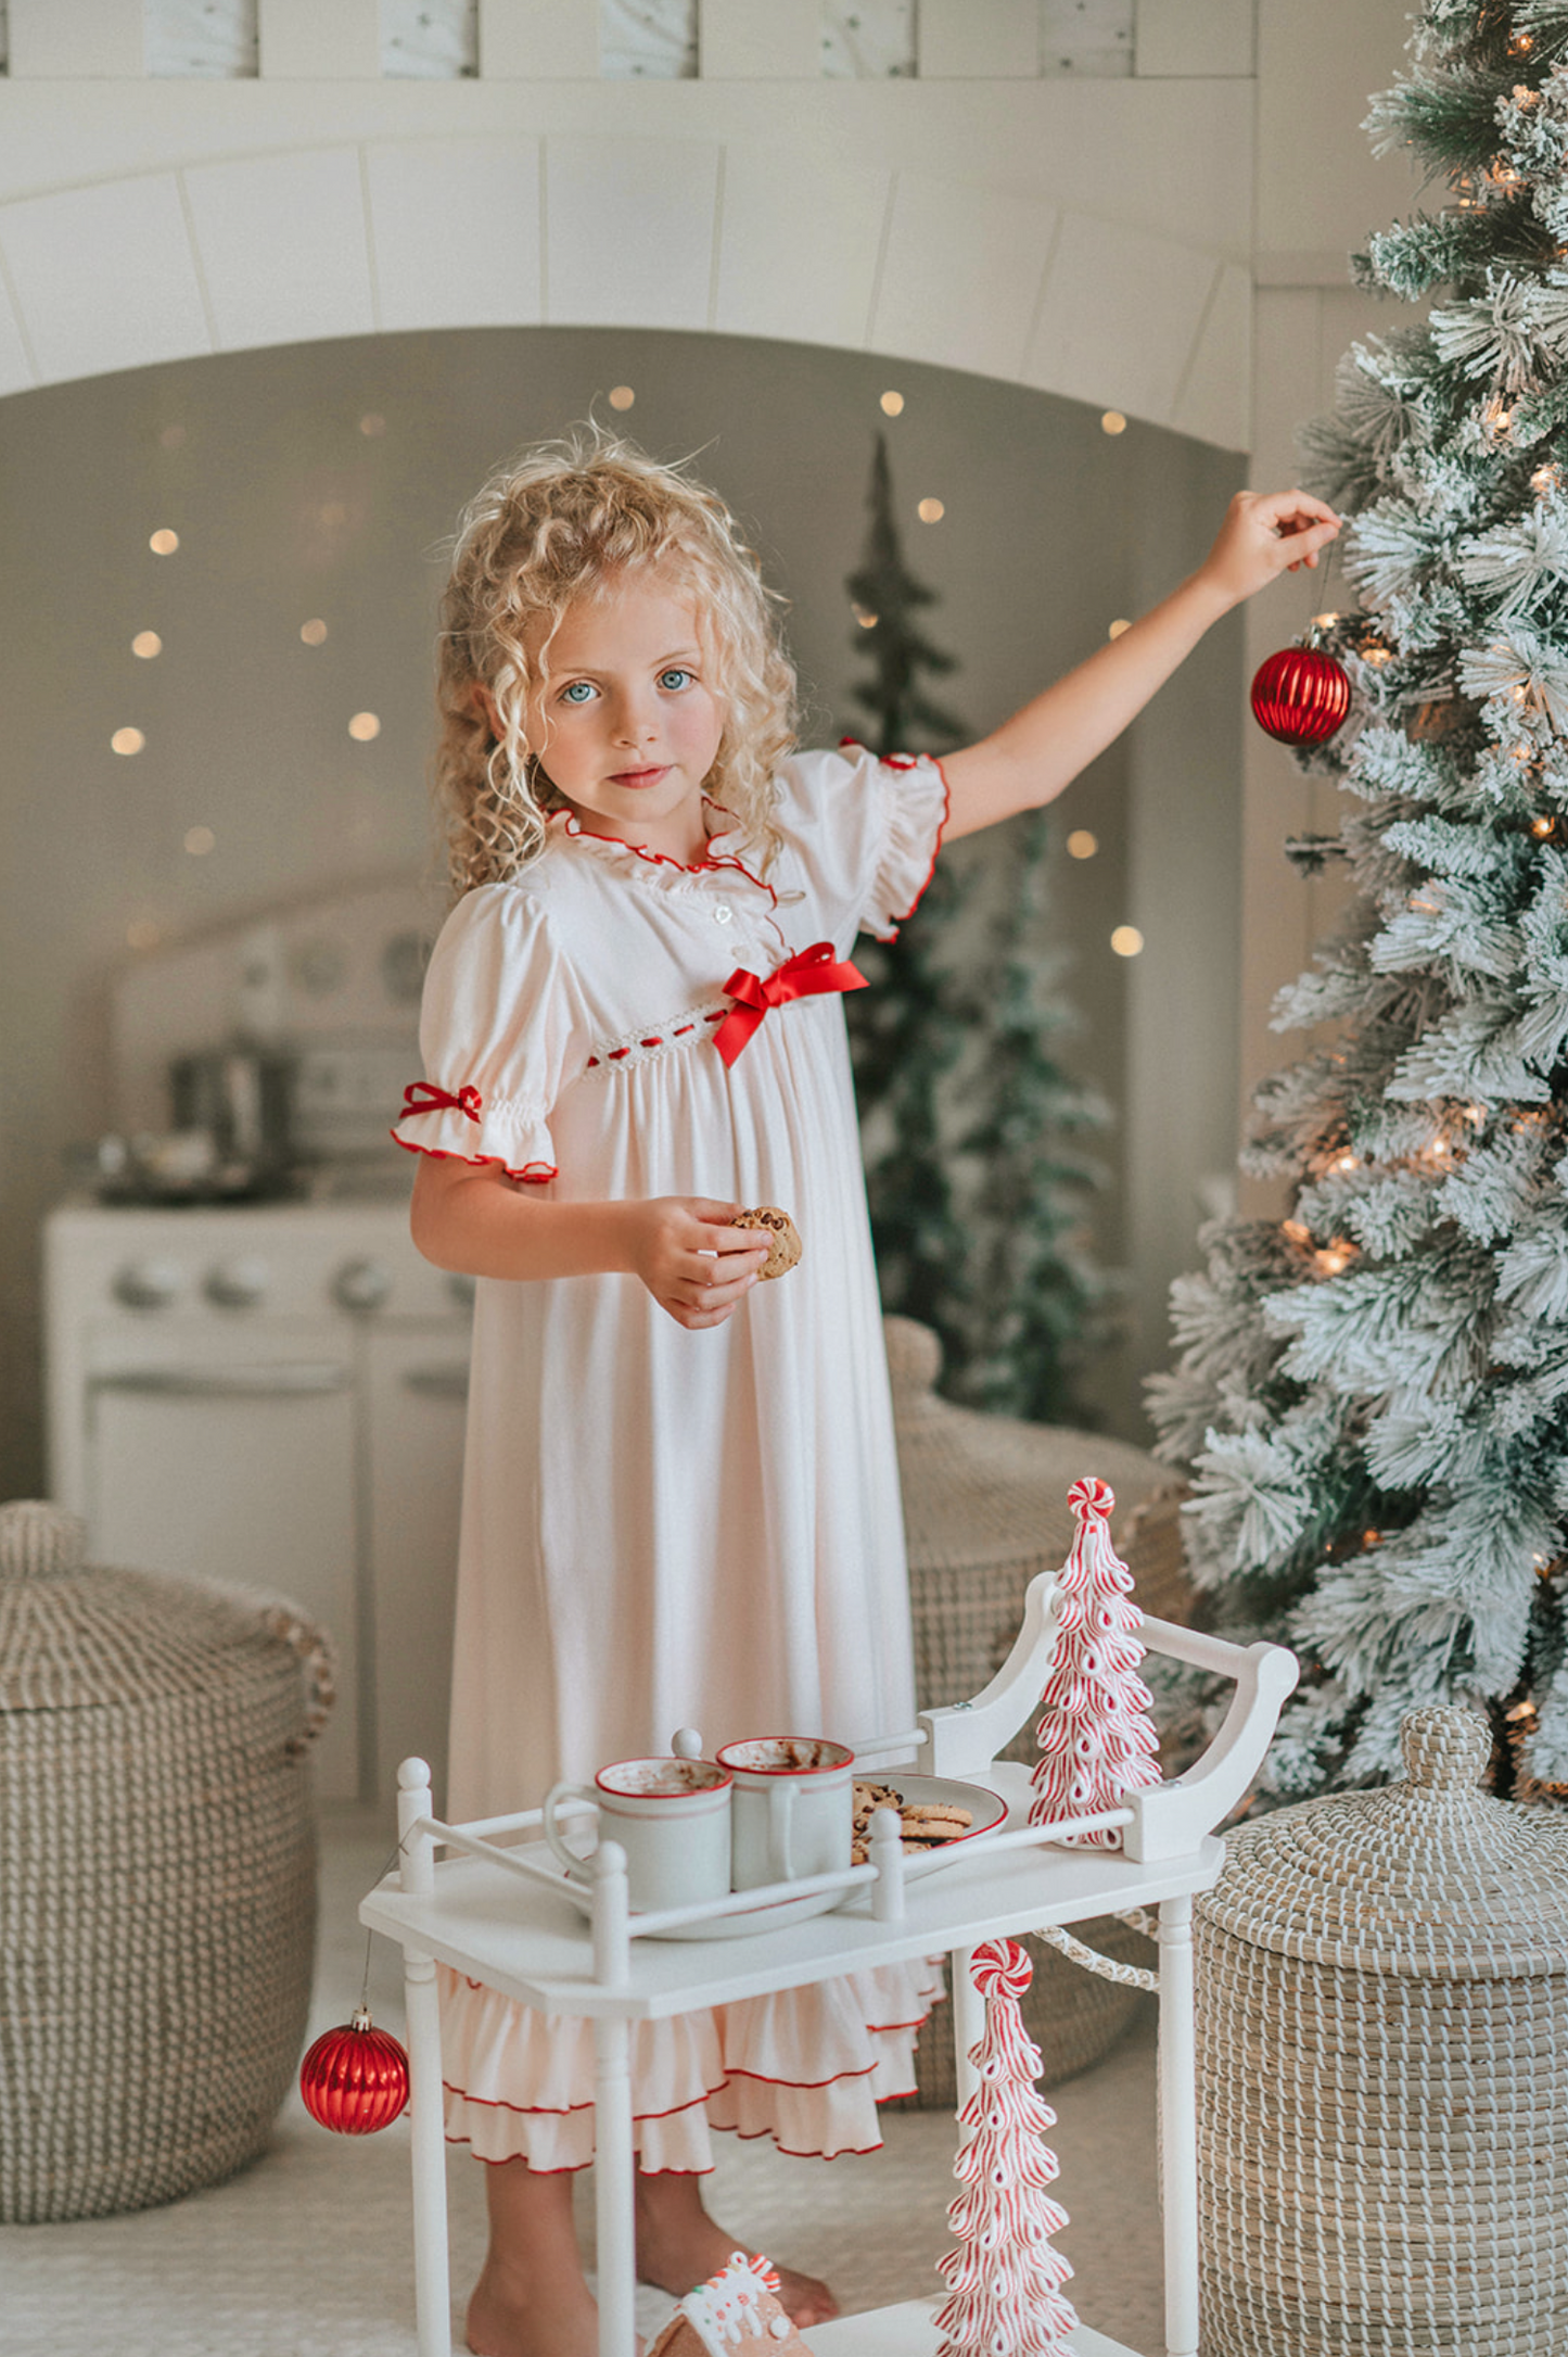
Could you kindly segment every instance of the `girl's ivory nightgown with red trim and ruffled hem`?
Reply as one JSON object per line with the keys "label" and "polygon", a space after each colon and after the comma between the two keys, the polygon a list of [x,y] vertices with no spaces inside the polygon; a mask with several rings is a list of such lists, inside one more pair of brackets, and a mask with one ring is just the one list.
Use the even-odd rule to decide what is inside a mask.
{"label": "girl's ivory nightgown with red trim and ruffled hem", "polygon": [[[426,978],[426,1091],[398,1143],[558,1202],[782,1204],[786,1277],[687,1332],[626,1275],[480,1280],[452,1666],[452,1820],[537,1805],[556,1777],[744,1735],[845,1742],[913,1725],[904,1532],[876,1270],[836,992],[772,1004],[732,1063],[746,988],[930,877],[935,761],[859,747],[779,775],[768,882],[739,834],[697,867],[551,820],[542,858],[452,910]],[[709,806],[709,825],[725,813]],[[803,969],[796,969],[800,973]],[[760,992],[751,992],[760,997]],[[727,1039],[730,1035],[725,1035]],[[706,2128],[791,2152],[881,2143],[935,1978],[902,1966],[638,2025],[643,2168],[711,2166]],[[593,2147],[586,2022],[443,1968],[447,2135],[572,2168]]]}

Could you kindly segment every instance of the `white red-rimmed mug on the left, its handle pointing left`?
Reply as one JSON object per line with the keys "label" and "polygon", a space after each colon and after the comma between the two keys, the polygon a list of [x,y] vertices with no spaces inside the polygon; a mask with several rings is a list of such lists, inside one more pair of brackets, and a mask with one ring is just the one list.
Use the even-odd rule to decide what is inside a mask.
{"label": "white red-rimmed mug on the left, its handle pointing left", "polygon": [[598,1838],[626,1850],[631,1904],[645,1914],[727,1895],[730,1777],[713,1761],[614,1761],[591,1784],[551,1784],[544,1838],[572,1881],[589,1888],[589,1867],[556,1822],[570,1801],[598,1810]]}

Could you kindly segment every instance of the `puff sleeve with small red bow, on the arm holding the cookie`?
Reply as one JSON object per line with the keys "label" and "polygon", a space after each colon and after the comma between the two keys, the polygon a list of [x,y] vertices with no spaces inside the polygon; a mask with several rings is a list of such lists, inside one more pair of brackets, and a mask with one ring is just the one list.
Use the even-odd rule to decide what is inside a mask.
{"label": "puff sleeve with small red bow, on the arm holding the cookie", "polygon": [[586,1068],[589,1016],[527,891],[483,884],[457,903],[424,978],[419,1049],[426,1077],[403,1094],[398,1146],[556,1176],[549,1115]]}

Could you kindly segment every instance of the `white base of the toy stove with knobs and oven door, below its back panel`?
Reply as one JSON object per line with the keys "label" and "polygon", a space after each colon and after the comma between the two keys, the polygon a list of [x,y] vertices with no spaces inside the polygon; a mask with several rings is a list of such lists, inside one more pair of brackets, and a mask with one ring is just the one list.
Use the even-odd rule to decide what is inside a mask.
{"label": "white base of the toy stove with knobs and oven door, below its back panel", "polygon": [[445,1782],[469,1294],[405,1202],[104,1209],[45,1228],[49,1490],[89,1556],[292,1596],[339,1692],[323,1801]]}

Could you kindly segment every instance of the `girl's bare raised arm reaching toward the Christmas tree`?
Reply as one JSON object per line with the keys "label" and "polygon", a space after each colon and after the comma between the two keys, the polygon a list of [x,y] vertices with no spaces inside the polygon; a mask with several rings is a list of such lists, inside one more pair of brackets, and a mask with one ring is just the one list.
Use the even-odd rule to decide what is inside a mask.
{"label": "girl's bare raised arm reaching toward the Christmas tree", "polygon": [[1316,566],[1337,530],[1333,507],[1311,493],[1238,490],[1220,537],[1180,589],[989,738],[944,757],[951,792],[944,841],[1055,801],[1137,719],[1222,613],[1281,573]]}

